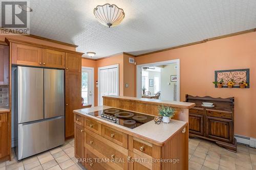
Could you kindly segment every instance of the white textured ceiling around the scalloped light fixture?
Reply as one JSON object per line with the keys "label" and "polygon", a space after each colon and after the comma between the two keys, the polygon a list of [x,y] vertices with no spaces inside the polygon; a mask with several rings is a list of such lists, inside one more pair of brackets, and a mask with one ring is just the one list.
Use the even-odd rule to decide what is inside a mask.
{"label": "white textured ceiling around the scalloped light fixture", "polygon": [[[30,0],[30,33],[79,45],[94,58],[121,52],[139,55],[256,28],[255,0]],[[101,25],[97,5],[125,12],[117,27]],[[87,56],[86,56],[87,57]]]}

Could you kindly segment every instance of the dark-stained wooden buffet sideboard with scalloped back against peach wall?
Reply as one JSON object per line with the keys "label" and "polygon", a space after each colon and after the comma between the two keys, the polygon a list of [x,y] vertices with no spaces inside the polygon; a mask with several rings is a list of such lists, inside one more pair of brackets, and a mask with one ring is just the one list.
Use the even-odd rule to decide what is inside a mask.
{"label": "dark-stained wooden buffet sideboard with scalloped back against peach wall", "polygon": [[[215,141],[229,151],[237,152],[234,138],[234,98],[211,98],[186,94],[186,102],[196,103],[189,109],[189,136]],[[215,107],[201,106],[202,102],[213,103]]]}

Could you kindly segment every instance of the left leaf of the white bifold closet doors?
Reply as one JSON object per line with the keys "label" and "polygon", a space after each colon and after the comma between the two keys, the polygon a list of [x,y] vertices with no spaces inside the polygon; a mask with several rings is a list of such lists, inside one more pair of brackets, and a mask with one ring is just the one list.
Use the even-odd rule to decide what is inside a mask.
{"label": "left leaf of the white bifold closet doors", "polygon": [[109,69],[100,70],[100,106],[103,105],[103,95],[109,95]]}

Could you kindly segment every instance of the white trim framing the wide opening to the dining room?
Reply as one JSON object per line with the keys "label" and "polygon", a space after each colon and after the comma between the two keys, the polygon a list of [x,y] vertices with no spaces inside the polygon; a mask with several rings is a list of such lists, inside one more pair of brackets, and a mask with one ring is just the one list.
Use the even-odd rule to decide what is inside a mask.
{"label": "white trim framing the wide opening to the dining room", "polygon": [[180,59],[175,60],[167,60],[167,61],[160,61],[155,63],[146,63],[146,64],[140,64],[137,65],[137,85],[136,85],[136,96],[137,98],[141,98],[141,68],[144,66],[155,66],[155,65],[163,65],[163,64],[177,64],[177,102],[180,101]]}

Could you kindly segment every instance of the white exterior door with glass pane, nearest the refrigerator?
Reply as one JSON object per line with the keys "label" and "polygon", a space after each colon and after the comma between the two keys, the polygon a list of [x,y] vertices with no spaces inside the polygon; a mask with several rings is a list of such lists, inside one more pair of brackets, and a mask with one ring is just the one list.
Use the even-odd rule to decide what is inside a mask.
{"label": "white exterior door with glass pane, nearest the refrigerator", "polygon": [[83,103],[94,105],[93,68],[82,68],[82,98]]}

